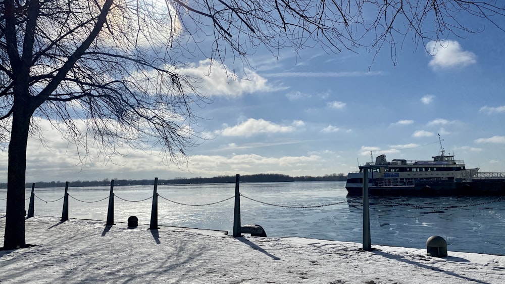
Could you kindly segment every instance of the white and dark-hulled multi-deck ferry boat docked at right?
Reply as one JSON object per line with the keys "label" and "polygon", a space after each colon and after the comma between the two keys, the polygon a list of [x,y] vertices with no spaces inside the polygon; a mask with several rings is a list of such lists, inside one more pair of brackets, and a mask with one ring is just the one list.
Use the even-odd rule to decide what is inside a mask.
{"label": "white and dark-hulled multi-deck ferry boat docked at right", "polygon": [[368,171],[368,188],[372,196],[505,196],[505,173],[479,173],[466,168],[463,160],[445,155],[440,139],[439,155],[431,161],[393,159],[380,155],[374,162],[359,166],[359,172],[347,175],[345,188],[349,196],[363,195],[363,171]]}

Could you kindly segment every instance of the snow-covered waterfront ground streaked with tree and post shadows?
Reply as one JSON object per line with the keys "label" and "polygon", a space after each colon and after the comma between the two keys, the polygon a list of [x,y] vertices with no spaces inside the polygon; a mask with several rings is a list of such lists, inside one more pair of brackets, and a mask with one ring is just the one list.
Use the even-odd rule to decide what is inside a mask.
{"label": "snow-covered waterfront ground streaked with tree and post shadows", "polygon": [[28,218],[35,246],[0,251],[0,283],[505,283],[505,256],[148,227]]}

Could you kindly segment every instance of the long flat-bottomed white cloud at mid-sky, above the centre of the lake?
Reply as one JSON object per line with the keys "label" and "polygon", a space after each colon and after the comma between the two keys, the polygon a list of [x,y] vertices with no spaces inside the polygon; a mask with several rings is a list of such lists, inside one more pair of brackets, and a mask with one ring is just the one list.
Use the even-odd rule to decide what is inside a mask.
{"label": "long flat-bottomed white cloud at mid-sky, above the centre of the lake", "polygon": [[[300,123],[301,122],[301,123]],[[249,137],[259,133],[287,133],[296,130],[296,127],[303,126],[302,121],[294,121],[291,125],[279,125],[264,119],[249,118],[248,120],[217,131],[224,136],[245,136]]]}

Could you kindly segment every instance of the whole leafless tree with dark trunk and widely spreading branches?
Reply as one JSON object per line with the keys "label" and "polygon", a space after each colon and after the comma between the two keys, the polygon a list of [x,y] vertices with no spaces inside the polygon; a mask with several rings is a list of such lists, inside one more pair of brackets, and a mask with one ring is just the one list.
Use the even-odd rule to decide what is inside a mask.
{"label": "whole leafless tree with dark trunk and widely spreading branches", "polygon": [[30,133],[43,139],[40,118],[75,143],[82,159],[90,149],[110,157],[124,146],[149,145],[177,164],[198,141],[193,109],[209,102],[198,92],[198,78],[181,71],[196,57],[243,67],[259,46],[275,55],[316,45],[377,52],[386,44],[394,59],[409,35],[422,43],[466,36],[480,31],[472,17],[495,24],[503,13],[486,0],[4,0],[4,249],[26,245],[26,148]]}

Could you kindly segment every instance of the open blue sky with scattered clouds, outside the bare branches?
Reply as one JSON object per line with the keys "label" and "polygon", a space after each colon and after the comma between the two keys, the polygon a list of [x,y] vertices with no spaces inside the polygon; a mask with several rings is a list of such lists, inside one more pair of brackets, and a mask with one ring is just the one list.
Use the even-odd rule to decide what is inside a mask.
{"label": "open blue sky with scattered clouds, outside the bare branches", "polygon": [[[505,172],[505,32],[473,21],[482,32],[427,41],[426,49],[407,37],[396,57],[388,46],[376,56],[316,47],[273,57],[259,49],[237,76],[227,77],[232,65],[214,65],[200,88],[212,103],[193,110],[205,139],[188,149],[185,165],[132,149],[81,163],[75,146],[41,121],[47,140],[30,138],[26,181],[347,174],[381,154],[432,160],[438,134],[467,168]],[[197,58],[184,72],[203,76],[209,64]]]}

